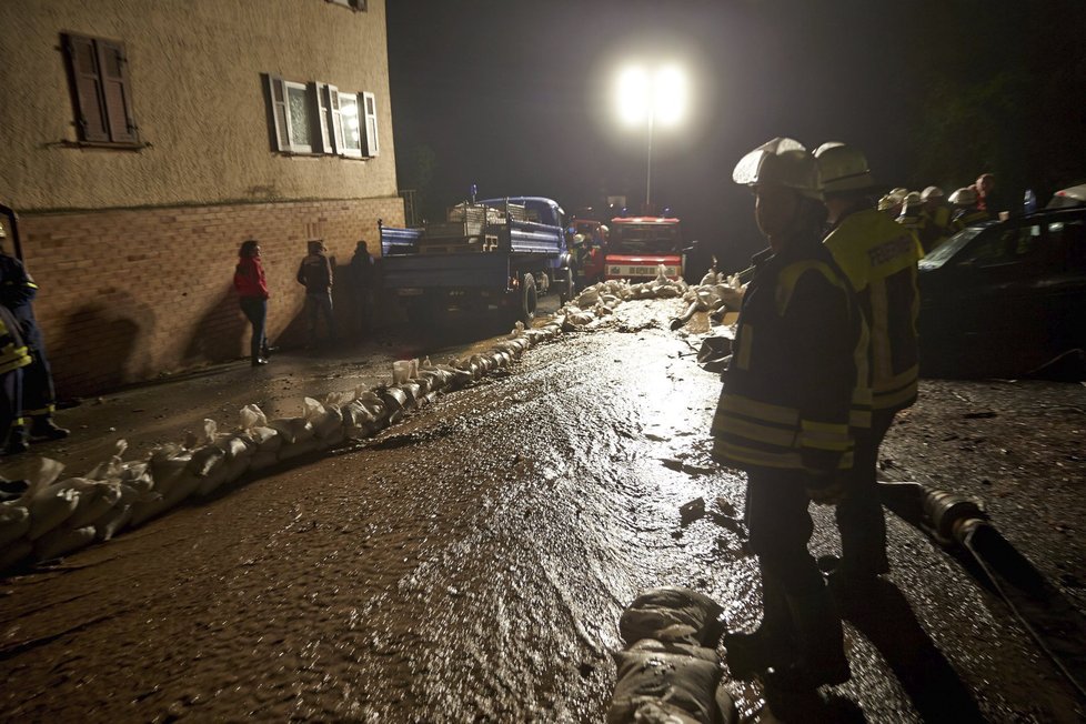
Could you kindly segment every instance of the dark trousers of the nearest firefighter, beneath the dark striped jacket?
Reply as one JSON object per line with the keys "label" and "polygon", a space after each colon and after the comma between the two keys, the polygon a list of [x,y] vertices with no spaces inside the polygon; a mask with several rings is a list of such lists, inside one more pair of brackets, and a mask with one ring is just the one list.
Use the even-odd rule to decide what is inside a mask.
{"label": "dark trousers of the nearest firefighter, beneath the dark striped jacket", "polygon": [[766,577],[788,596],[818,593],[822,572],[807,551],[814,531],[802,470],[757,469],[747,472],[746,526],[751,550]]}

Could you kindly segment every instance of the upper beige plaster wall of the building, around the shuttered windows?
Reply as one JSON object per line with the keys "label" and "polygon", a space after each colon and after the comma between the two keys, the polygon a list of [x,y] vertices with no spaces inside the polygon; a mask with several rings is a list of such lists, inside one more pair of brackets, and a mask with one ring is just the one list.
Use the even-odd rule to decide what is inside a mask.
{"label": "upper beige plaster wall of the building, around the shuttered windows", "polygon": [[[0,27],[0,200],[21,212],[396,192],[381,0],[4,0]],[[145,147],[74,144],[62,32],[125,44]],[[375,93],[381,154],[273,153],[261,73]]]}

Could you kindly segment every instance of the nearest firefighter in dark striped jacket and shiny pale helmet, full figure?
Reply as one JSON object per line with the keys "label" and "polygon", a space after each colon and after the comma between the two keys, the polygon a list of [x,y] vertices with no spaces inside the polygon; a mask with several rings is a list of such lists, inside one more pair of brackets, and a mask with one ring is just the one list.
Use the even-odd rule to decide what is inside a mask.
{"label": "nearest firefighter in dark striped jacket and shiny pale helmet, full figure", "polygon": [[852,463],[852,405],[863,402],[866,380],[862,319],[821,244],[825,209],[803,145],[774,139],[747,153],[732,178],[754,191],[770,249],[753,259],[713,418],[713,456],[747,474],[764,615],[753,633],[725,634],[724,646],[738,678],[764,672],[771,685],[839,684],[851,675],[848,660],[841,619],[807,551],[807,509],[837,499],[839,472]]}

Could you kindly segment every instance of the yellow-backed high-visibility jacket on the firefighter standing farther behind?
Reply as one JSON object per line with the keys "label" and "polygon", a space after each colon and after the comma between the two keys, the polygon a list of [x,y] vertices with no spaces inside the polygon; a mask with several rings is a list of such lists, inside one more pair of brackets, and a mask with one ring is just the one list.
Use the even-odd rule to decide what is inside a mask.
{"label": "yellow-backed high-visibility jacket on the firefighter standing farther behind", "polygon": [[861,209],[838,221],[825,245],[848,276],[867,320],[873,409],[909,406],[919,379],[919,241],[886,214]]}

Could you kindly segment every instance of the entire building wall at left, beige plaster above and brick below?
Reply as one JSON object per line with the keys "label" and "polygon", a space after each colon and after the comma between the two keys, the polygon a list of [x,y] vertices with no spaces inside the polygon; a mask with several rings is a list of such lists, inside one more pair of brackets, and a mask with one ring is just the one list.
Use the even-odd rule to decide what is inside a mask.
{"label": "entire building wall at left, beige plaster above and brick below", "polygon": [[[323,238],[345,264],[359,239],[380,248],[379,218],[403,223],[384,9],[384,0],[365,12],[324,0],[0,2],[0,203],[20,214],[62,396],[247,354],[231,290],[244,239],[263,250],[272,339],[290,343],[303,326],[294,273],[305,241]],[[124,43],[139,148],[78,142],[61,33]],[[265,73],[374,93],[380,155],[273,151]]]}

